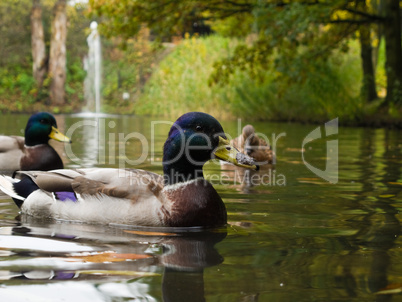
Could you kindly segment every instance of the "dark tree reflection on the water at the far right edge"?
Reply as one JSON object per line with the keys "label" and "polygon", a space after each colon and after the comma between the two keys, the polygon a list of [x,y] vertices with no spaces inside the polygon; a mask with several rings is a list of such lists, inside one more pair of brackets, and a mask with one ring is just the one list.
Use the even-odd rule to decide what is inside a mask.
{"label": "dark tree reflection on the water at the far right edge", "polygon": [[[364,161],[361,165],[363,192],[379,193],[375,188],[377,182],[373,181],[373,176],[376,178],[381,175],[381,183],[389,184],[397,182],[401,175],[400,165],[393,163],[394,158],[401,158],[400,148],[395,148],[390,132],[388,130],[384,132],[372,129],[363,130],[360,143],[361,158],[373,159],[376,152],[381,152],[381,157],[390,159],[384,162],[381,167],[382,171],[377,170],[378,164],[372,160]],[[365,227],[356,235],[358,244],[372,250],[372,262],[368,275],[368,288],[371,292],[378,292],[388,285],[388,270],[391,265],[388,251],[395,247],[395,241],[401,232],[400,221],[396,217],[399,211],[389,199],[397,192],[395,188],[391,188],[391,190],[387,188],[384,193],[386,194],[373,196],[374,199],[370,199],[370,202],[367,202],[366,197],[361,199],[361,202],[370,211],[363,220]],[[389,301],[390,299],[391,296],[379,296],[378,301]]]}

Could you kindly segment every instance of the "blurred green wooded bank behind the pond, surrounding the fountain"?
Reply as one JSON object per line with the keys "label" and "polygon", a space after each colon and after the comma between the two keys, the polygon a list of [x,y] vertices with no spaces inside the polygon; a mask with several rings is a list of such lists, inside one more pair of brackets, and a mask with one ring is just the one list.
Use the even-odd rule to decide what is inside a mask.
{"label": "blurred green wooded bank behind the pond, surrounding the fountain", "polygon": [[96,21],[104,113],[401,125],[400,13],[398,0],[3,0],[0,111],[95,111]]}

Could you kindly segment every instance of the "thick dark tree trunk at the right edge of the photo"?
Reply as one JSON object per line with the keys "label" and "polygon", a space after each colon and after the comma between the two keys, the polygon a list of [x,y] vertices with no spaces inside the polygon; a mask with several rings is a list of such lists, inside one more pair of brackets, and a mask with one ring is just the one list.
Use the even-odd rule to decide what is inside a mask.
{"label": "thick dark tree trunk at the right edge of the photo", "polygon": [[386,104],[402,104],[402,49],[399,0],[384,1],[385,69],[387,73]]}

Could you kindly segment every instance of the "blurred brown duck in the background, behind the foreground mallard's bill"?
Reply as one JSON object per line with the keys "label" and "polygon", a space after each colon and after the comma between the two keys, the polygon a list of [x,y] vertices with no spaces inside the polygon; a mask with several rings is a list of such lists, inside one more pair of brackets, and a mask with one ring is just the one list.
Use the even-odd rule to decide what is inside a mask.
{"label": "blurred brown duck in the background, behind the foreground mallard's bill", "polygon": [[242,134],[231,140],[230,143],[260,165],[275,164],[276,158],[273,150],[265,140],[258,137],[252,125],[244,126]]}

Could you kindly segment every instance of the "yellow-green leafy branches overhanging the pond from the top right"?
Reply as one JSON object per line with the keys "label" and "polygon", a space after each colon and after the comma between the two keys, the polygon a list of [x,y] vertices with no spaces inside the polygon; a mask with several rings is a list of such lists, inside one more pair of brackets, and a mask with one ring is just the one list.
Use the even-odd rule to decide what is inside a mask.
{"label": "yellow-green leafy branches overhanging the pond from the top right", "polygon": [[197,20],[209,20],[212,28],[225,36],[244,37],[252,31],[258,33],[258,39],[252,45],[239,45],[231,58],[216,64],[211,81],[227,83],[236,69],[258,77],[267,68],[268,58],[274,50],[277,52],[273,62],[276,68],[292,73],[299,70],[289,68],[289,65],[293,66],[299,60],[300,53],[295,50],[300,46],[309,48],[303,53],[304,61],[325,60],[334,48],[342,46],[341,42],[347,42],[348,36],[357,28],[343,25],[323,28],[323,24],[341,16],[336,15],[338,11],[347,12],[345,17],[351,15],[346,10],[349,5],[353,6],[349,2],[91,0],[90,6],[94,14],[104,18],[103,29],[109,35],[130,37],[144,23],[157,37],[169,38],[189,31],[189,24]]}

